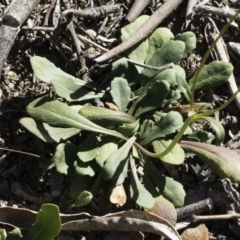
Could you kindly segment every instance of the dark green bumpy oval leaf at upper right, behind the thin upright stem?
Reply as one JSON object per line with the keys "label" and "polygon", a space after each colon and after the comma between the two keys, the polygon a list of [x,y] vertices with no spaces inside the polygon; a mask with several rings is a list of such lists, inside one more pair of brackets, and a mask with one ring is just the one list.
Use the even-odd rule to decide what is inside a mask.
{"label": "dark green bumpy oval leaf at upper right, behind the thin upright stem", "polygon": [[[211,89],[220,86],[228,81],[232,72],[233,66],[230,63],[223,61],[211,62],[201,69],[195,85],[195,90]],[[194,77],[189,80],[190,89],[193,86]]]}

